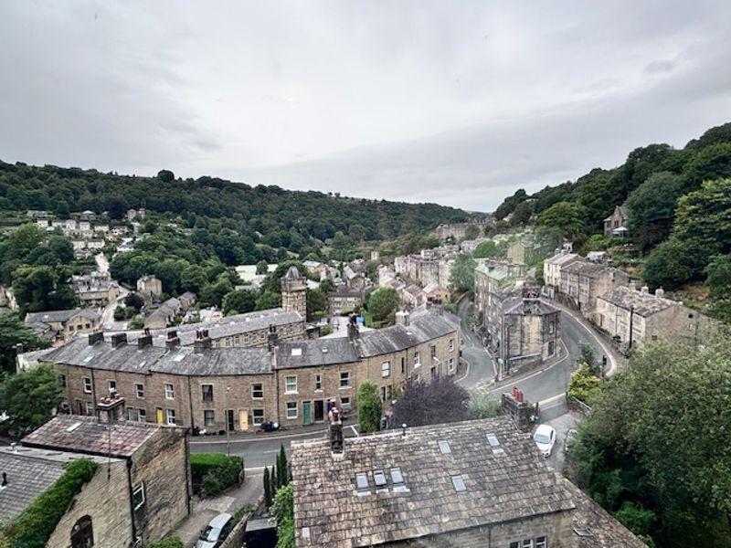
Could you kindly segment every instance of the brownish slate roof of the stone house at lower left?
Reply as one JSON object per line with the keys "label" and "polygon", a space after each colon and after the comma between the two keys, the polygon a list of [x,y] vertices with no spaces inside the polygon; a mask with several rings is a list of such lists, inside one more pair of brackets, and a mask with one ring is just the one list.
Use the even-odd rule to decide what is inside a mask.
{"label": "brownish slate roof of the stone house at lower left", "polygon": [[[108,427],[111,427],[111,435]],[[28,447],[127,458],[132,457],[160,428],[164,427],[137,422],[109,425],[100,422],[96,416],[58,415],[24,437],[22,443]]]}

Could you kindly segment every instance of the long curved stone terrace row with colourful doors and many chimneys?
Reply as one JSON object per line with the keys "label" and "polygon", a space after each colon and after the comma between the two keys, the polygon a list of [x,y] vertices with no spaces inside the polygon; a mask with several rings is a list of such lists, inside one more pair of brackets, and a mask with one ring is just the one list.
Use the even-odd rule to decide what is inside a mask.
{"label": "long curved stone terrace row with colourful doors and many chimneys", "polygon": [[[355,409],[358,385],[376,383],[388,410],[394,390],[409,378],[454,374],[460,352],[459,319],[439,307],[417,311],[402,324],[347,338],[280,340],[265,347],[214,345],[210,330],[185,346],[169,331],[163,345],[152,334],[136,342],[126,333],[79,338],[40,358],[53,364],[64,386],[65,412],[93,414],[111,391],[126,400],[130,421],[246,430],[274,420],[287,427],[323,421],[328,404]],[[226,319],[224,319],[226,320]]]}

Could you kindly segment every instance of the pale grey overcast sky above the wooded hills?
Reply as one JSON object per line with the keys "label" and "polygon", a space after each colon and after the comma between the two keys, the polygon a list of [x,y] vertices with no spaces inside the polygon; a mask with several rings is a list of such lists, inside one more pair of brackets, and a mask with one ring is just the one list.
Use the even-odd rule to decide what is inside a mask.
{"label": "pale grey overcast sky above the wooded hills", "polygon": [[0,159],[492,210],[731,121],[731,2],[0,2]]}

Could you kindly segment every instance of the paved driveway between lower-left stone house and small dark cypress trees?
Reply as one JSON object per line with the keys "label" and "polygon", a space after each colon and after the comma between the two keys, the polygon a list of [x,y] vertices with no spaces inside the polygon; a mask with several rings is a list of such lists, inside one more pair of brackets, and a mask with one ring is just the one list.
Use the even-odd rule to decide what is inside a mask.
{"label": "paved driveway between lower-left stone house and small dark cypress trees", "polygon": [[171,535],[179,536],[185,546],[196,543],[201,530],[219,513],[235,514],[246,505],[256,505],[264,494],[264,474],[246,474],[246,480],[240,487],[230,489],[211,499],[192,501],[190,515],[178,523]]}

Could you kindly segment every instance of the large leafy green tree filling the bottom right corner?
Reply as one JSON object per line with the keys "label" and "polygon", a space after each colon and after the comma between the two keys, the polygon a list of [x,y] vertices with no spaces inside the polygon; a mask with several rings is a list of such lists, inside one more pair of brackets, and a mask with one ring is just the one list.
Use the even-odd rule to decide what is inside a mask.
{"label": "large leafy green tree filling the bottom right corner", "polygon": [[[571,476],[659,546],[726,546],[729,394],[727,332],[706,338],[703,346],[644,347],[605,383],[579,428]],[[625,501],[634,506],[624,507]]]}

